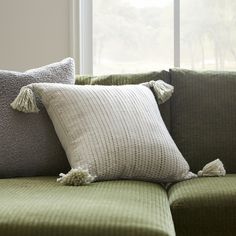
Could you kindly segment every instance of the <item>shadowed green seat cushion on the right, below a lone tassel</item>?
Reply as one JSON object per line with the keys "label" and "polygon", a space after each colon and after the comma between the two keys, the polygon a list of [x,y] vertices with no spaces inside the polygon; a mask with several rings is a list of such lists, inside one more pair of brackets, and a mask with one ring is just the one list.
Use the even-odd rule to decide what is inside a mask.
{"label": "shadowed green seat cushion on the right, below a lone tassel", "polygon": [[177,235],[235,235],[236,174],[180,182],[168,194]]}

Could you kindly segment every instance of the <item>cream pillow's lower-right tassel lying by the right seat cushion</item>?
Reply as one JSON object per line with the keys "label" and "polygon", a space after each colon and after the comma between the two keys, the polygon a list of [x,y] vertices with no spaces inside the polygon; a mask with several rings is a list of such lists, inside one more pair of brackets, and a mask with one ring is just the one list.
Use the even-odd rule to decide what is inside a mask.
{"label": "cream pillow's lower-right tassel lying by the right seat cushion", "polygon": [[202,170],[198,171],[197,175],[201,176],[225,176],[226,170],[221,160],[216,159],[206,164]]}

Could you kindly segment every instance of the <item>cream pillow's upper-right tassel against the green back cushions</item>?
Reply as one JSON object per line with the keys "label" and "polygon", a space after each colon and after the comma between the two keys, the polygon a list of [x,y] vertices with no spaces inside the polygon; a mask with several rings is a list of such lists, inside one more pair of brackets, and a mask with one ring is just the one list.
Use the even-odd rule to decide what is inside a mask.
{"label": "cream pillow's upper-right tassel against the green back cushions", "polygon": [[150,82],[142,83],[142,85],[153,88],[158,104],[162,104],[169,100],[174,92],[174,87],[165,83],[163,80],[152,80]]}

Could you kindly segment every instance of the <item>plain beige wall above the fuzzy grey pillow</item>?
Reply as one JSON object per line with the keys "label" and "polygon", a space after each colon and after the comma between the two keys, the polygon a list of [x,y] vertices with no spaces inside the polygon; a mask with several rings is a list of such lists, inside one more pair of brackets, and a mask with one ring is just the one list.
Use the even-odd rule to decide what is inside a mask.
{"label": "plain beige wall above the fuzzy grey pillow", "polygon": [[0,0],[0,69],[24,71],[70,55],[70,0]]}

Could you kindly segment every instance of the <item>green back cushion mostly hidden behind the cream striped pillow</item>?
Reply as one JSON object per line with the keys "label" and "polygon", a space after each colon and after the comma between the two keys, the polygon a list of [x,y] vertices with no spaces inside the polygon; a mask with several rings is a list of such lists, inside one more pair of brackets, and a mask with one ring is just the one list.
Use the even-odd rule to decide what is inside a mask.
{"label": "green back cushion mostly hidden behind the cream striped pillow", "polygon": [[[124,84],[140,84],[151,80],[163,80],[170,83],[169,72],[154,71],[139,74],[113,74],[101,76],[76,75],[75,84],[78,85],[124,85]],[[162,118],[166,127],[170,131],[170,101],[159,106]]]}

